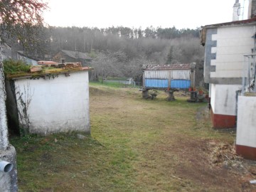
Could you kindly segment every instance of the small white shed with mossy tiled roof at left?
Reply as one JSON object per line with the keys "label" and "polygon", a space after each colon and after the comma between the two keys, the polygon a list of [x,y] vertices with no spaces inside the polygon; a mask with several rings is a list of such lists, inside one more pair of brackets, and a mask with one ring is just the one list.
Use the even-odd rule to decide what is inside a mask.
{"label": "small white shed with mossy tiled roof at left", "polygon": [[25,134],[90,133],[90,68],[41,68],[7,77],[9,120]]}

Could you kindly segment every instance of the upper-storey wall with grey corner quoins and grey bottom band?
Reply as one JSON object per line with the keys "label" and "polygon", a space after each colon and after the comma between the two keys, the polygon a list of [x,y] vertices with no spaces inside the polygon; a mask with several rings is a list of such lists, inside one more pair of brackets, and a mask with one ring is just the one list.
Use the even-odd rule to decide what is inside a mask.
{"label": "upper-storey wall with grey corner quoins and grey bottom band", "polygon": [[205,81],[214,84],[242,84],[245,54],[252,53],[255,26],[209,28],[206,34]]}

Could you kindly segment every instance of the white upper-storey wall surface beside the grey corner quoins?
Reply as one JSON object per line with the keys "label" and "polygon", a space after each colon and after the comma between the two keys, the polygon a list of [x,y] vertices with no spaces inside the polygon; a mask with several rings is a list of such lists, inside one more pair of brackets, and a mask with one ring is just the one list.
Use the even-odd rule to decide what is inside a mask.
{"label": "white upper-storey wall surface beside the grey corner quoins", "polygon": [[218,28],[213,34],[213,41],[217,47],[212,48],[216,59],[210,65],[215,65],[215,72],[210,72],[210,78],[241,78],[243,68],[243,55],[252,53],[255,26],[228,26]]}

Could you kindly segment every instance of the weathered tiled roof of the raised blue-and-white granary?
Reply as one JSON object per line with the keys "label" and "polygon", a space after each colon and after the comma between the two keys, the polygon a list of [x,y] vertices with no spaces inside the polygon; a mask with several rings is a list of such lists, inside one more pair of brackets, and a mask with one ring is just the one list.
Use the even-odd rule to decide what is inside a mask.
{"label": "weathered tiled roof of the raised blue-and-white granary", "polygon": [[144,70],[191,70],[191,64],[144,65]]}

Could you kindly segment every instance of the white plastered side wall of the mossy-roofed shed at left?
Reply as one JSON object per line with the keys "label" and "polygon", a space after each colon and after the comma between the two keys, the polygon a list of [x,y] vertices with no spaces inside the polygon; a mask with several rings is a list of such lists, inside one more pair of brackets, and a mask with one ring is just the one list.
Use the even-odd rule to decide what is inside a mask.
{"label": "white plastered side wall of the mossy-roofed shed at left", "polygon": [[[18,89],[23,92],[23,100],[31,98],[28,107],[29,132],[90,132],[87,71],[73,72],[69,77],[60,74],[54,79],[19,79],[15,80],[15,87],[16,92]],[[21,107],[19,110],[22,110]]]}

